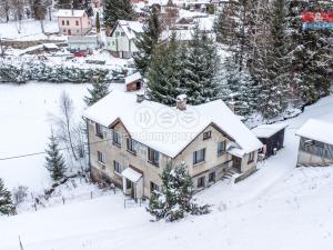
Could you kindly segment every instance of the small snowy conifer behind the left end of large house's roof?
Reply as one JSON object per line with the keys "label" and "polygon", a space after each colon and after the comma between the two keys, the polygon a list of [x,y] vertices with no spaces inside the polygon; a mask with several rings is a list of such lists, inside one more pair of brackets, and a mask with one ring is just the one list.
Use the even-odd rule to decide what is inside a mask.
{"label": "small snowy conifer behind the left end of large house's roof", "polygon": [[89,96],[84,97],[84,102],[88,107],[94,104],[109,93],[109,84],[101,76],[94,77],[92,88],[88,89]]}

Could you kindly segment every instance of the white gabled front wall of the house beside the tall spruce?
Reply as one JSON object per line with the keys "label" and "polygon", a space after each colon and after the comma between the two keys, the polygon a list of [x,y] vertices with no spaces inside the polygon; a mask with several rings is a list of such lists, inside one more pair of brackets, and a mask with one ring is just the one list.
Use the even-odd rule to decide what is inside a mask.
{"label": "white gabled front wall of the house beside the tall spruce", "polygon": [[133,40],[129,40],[121,26],[117,26],[111,37],[107,37],[107,49],[115,57],[130,58],[138,52]]}

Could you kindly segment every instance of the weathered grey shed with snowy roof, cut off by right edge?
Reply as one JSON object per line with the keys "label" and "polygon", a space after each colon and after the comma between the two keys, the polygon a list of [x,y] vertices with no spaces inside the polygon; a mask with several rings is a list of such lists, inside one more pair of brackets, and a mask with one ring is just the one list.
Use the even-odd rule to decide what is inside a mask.
{"label": "weathered grey shed with snowy roof, cut off by right edge", "polygon": [[333,123],[310,119],[296,136],[301,138],[297,166],[333,164]]}

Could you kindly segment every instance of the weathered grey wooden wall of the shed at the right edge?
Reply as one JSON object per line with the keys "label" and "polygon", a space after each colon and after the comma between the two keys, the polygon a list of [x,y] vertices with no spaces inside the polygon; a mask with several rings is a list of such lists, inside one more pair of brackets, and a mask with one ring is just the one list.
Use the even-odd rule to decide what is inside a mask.
{"label": "weathered grey wooden wall of the shed at the right edge", "polygon": [[313,141],[312,146],[306,146],[310,139],[301,138],[297,156],[297,166],[333,164],[333,146],[319,141]]}

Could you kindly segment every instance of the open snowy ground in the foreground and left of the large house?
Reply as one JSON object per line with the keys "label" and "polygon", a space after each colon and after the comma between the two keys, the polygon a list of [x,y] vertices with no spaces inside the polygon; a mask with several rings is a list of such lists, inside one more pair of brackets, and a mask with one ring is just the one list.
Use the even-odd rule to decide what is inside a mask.
{"label": "open snowy ground in the foreground and left of the large house", "polygon": [[[0,156],[43,150],[50,129],[47,113],[57,110],[61,90],[68,90],[81,110],[85,88],[0,86]],[[199,193],[199,200],[213,204],[208,216],[150,222],[143,207],[124,209],[121,192],[110,193],[0,218],[0,249],[19,249],[18,236],[24,250],[332,249],[333,168],[295,168],[296,129],[309,118],[333,122],[332,108],[333,96],[284,121],[285,148],[246,180],[219,181]],[[42,187],[48,180],[42,162],[42,157],[0,162],[0,176],[9,187]]]}

